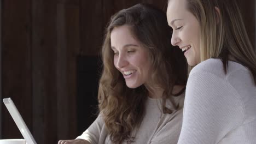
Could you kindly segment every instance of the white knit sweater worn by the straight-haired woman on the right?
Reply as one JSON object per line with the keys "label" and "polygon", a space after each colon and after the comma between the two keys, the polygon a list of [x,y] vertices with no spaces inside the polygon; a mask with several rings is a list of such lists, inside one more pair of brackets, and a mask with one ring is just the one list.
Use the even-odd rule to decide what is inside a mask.
{"label": "white knit sweater worn by the straight-haired woman on the right", "polygon": [[178,144],[256,143],[256,87],[251,72],[236,62],[224,74],[220,59],[191,70]]}

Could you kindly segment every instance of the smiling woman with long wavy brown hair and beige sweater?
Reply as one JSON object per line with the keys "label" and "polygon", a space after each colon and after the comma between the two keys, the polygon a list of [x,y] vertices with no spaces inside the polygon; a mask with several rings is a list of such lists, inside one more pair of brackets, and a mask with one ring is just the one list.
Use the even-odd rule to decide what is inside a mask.
{"label": "smiling woman with long wavy brown hair and beige sweater", "polygon": [[177,143],[187,66],[161,10],[137,4],[112,16],[102,46],[100,115],[59,143]]}

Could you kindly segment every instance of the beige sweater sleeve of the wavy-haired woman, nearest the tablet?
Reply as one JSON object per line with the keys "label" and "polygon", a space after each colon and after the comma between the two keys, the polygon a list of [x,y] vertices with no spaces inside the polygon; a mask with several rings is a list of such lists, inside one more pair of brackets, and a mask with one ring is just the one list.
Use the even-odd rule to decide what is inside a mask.
{"label": "beige sweater sleeve of the wavy-haired woman, nearest the tablet", "polygon": [[82,135],[78,136],[77,139],[84,139],[89,141],[91,144],[97,144],[102,133],[103,124],[104,121],[100,114],[90,127],[86,129]]}

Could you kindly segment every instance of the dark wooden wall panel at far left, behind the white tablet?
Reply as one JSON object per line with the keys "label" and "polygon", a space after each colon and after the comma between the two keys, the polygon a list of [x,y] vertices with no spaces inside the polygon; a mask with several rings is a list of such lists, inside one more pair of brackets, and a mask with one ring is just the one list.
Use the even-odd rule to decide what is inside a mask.
{"label": "dark wooden wall panel at far left, behind the white tablet", "polygon": [[[2,95],[13,99],[32,130],[30,4],[30,0],[2,3]],[[21,138],[4,105],[1,113],[2,139]]]}

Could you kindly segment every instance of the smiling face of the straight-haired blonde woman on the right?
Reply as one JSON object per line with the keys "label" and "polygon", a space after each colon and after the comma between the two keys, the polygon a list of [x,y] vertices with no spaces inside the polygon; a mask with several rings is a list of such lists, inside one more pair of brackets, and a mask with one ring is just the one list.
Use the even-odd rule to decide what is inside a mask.
{"label": "smiling face of the straight-haired blonde woman on the right", "polygon": [[200,25],[187,9],[187,0],[170,0],[166,13],[173,29],[172,45],[182,49],[189,65],[200,63]]}

